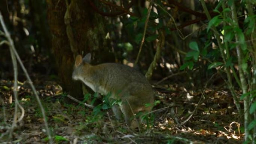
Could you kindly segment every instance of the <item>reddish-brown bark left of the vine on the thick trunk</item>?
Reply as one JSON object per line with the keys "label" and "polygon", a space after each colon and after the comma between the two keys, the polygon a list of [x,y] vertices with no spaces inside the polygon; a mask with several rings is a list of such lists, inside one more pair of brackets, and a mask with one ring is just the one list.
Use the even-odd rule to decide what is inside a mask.
{"label": "reddish-brown bark left of the vine on the thick trunk", "polygon": [[73,52],[70,49],[64,15],[66,4],[64,0],[47,0],[48,24],[51,30],[52,50],[55,57],[58,76],[61,86],[75,98],[82,97],[82,89],[79,82],[73,81]]}

